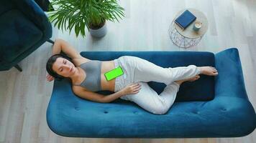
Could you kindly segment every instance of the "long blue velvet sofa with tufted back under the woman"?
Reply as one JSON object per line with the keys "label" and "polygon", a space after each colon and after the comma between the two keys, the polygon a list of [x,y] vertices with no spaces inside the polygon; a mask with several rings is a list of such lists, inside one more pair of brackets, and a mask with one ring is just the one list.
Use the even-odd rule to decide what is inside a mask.
{"label": "long blue velvet sofa with tufted back under the woman", "polygon": [[[47,124],[65,137],[89,138],[204,138],[243,137],[254,131],[256,114],[244,87],[235,48],[217,54],[199,51],[86,51],[88,59],[109,60],[134,55],[159,66],[216,66],[217,77],[202,76],[180,87],[166,114],[152,114],[134,102],[116,99],[97,103],[73,94],[67,80],[54,82],[47,107]],[[157,92],[163,84],[150,83]],[[187,92],[189,91],[189,92]],[[102,92],[102,94],[108,94]]]}

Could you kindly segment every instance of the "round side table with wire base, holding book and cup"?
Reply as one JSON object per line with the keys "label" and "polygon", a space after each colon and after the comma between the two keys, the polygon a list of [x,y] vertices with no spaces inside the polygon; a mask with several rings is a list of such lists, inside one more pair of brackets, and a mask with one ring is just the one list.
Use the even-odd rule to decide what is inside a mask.
{"label": "round side table with wire base, holding book and cup", "polygon": [[[178,16],[180,16],[180,14],[182,14],[184,11],[186,11],[186,9],[179,11],[175,16],[175,19],[178,18]],[[193,21],[192,24],[183,30],[180,28],[180,26],[178,26],[178,24],[175,24],[175,19],[173,19],[172,23],[170,24],[168,34],[170,39],[173,41],[173,44],[179,46],[180,48],[196,46],[201,41],[202,37],[208,29],[207,18],[201,11],[196,9],[188,9],[188,11],[191,11],[191,13],[196,16],[196,21],[201,21],[202,26],[198,31],[194,31],[193,25],[196,21]]]}

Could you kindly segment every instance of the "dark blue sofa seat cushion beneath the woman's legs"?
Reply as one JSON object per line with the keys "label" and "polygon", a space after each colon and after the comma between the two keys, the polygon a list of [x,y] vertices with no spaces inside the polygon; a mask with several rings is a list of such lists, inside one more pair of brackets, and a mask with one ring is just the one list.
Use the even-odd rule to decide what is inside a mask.
{"label": "dark blue sofa seat cushion beneath the woman's legs", "polygon": [[[198,51],[83,51],[81,56],[88,59],[113,60],[119,56],[137,56],[146,59],[158,66],[177,67],[194,64],[196,66],[214,66],[214,54]],[[157,94],[165,88],[165,84],[149,82],[150,87]],[[98,92],[111,94],[111,92]],[[214,99],[214,77],[201,75],[196,82],[185,82],[181,84],[175,102],[185,101],[209,101]]]}

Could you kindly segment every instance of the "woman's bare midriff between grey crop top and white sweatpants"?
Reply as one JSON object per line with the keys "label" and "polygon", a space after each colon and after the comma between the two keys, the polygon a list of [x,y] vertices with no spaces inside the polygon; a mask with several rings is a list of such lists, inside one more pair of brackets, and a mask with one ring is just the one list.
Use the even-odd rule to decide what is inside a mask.
{"label": "woman's bare midriff between grey crop top and white sweatpants", "polygon": [[104,76],[104,73],[106,71],[110,71],[111,69],[114,69],[114,61],[102,61],[102,63],[101,63],[101,89],[114,92],[114,84],[116,82],[116,79],[107,81],[106,77]]}

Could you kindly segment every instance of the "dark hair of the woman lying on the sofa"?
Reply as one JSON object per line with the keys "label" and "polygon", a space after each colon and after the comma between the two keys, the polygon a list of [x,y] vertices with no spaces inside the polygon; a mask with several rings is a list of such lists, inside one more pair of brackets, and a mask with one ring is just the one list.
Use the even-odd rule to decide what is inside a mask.
{"label": "dark hair of the woman lying on the sofa", "polygon": [[54,54],[54,55],[50,56],[50,58],[48,59],[48,61],[46,63],[46,71],[48,72],[48,74],[50,74],[55,79],[61,80],[61,79],[65,79],[65,77],[61,76],[60,74],[57,74],[57,72],[55,72],[52,69],[52,65],[55,63],[56,59],[59,58],[59,57],[62,57],[64,59],[68,59],[68,61],[73,63],[72,59],[69,56],[66,56],[64,54]]}

